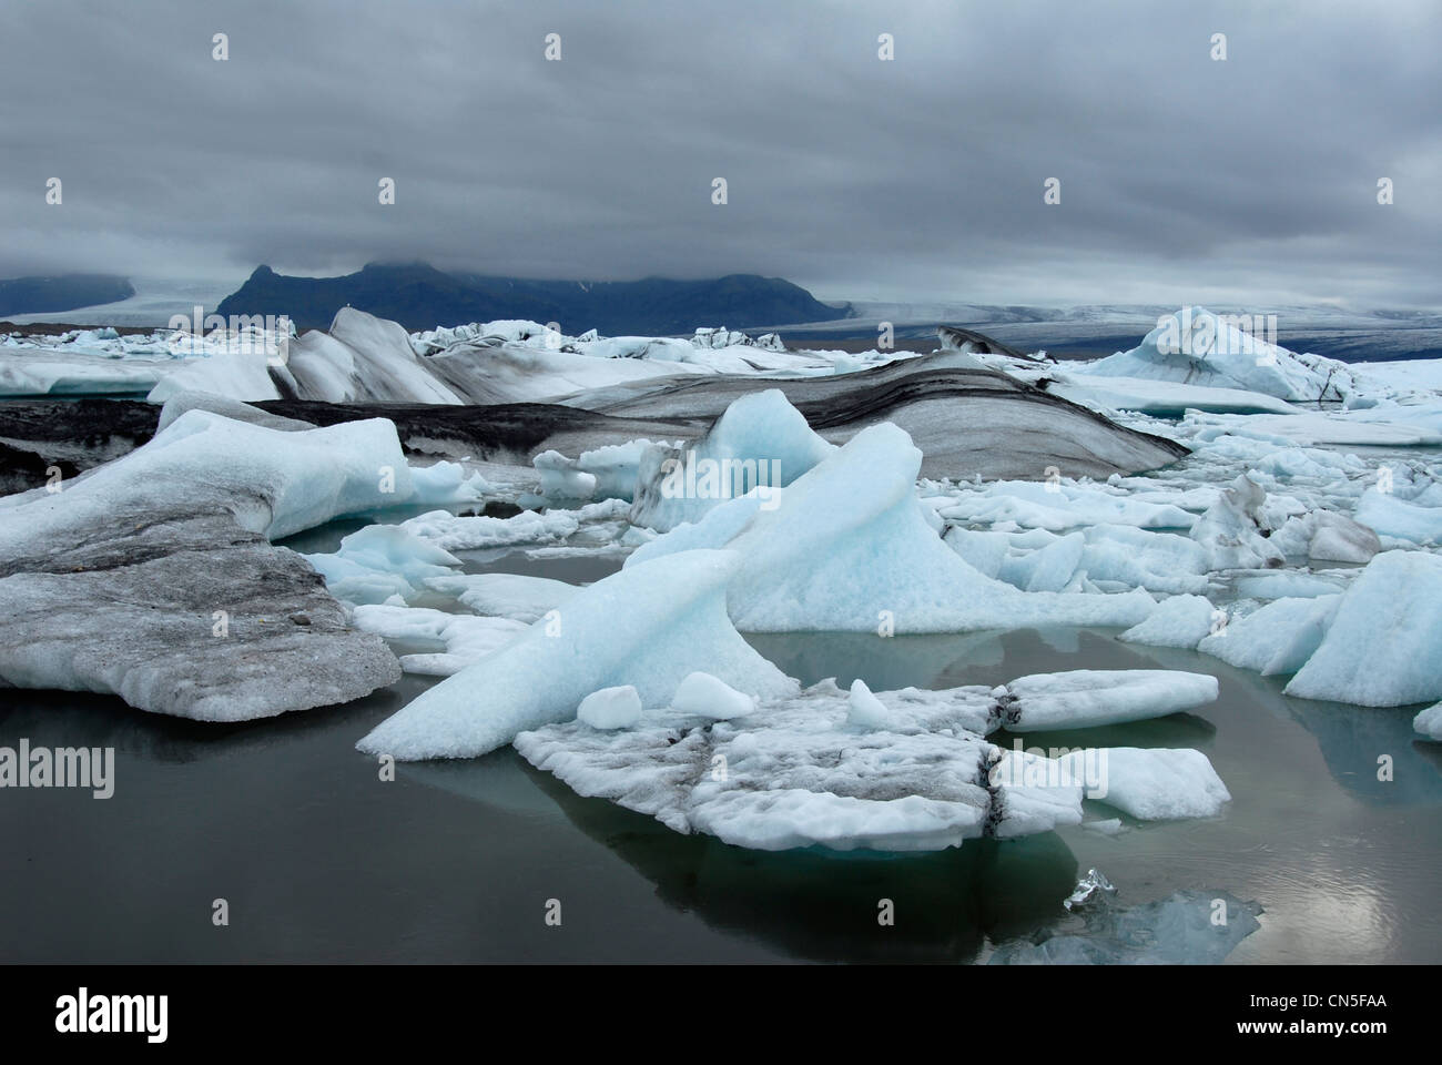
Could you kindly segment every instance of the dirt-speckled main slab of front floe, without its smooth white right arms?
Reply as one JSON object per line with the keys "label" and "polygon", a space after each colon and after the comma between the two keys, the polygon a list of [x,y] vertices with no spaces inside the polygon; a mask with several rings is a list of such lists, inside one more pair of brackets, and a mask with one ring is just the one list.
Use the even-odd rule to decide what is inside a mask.
{"label": "dirt-speckled main slab of front floe, without its smooth white right arms", "polygon": [[581,722],[523,732],[516,749],[581,795],[758,850],[940,850],[1080,821],[1080,786],[991,782],[1011,755],[966,727],[985,719],[985,690],[919,701],[921,713],[904,693],[880,698],[911,723],[861,729],[826,681],[724,722],[666,709],[624,732]]}

